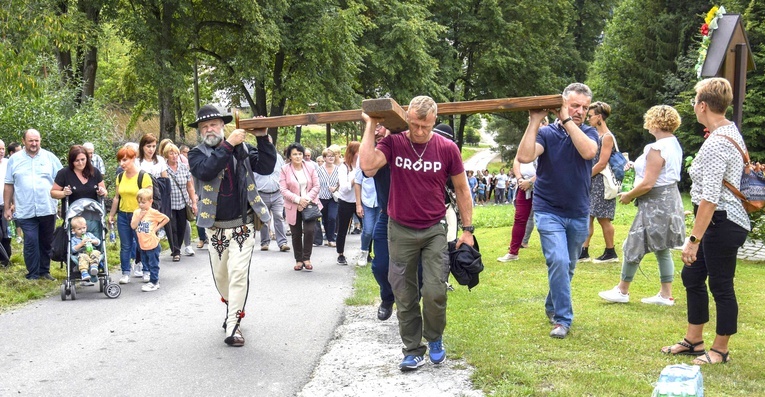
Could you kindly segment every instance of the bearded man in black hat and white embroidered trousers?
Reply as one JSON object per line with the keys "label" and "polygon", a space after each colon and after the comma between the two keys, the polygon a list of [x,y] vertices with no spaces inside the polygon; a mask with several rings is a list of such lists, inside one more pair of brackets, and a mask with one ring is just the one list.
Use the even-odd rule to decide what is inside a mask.
{"label": "bearded man in black hat and white embroidered trousers", "polygon": [[189,151],[189,167],[201,185],[197,225],[207,231],[213,280],[227,307],[224,342],[238,347],[244,346],[240,323],[249,290],[250,261],[258,245],[255,232],[270,220],[253,172],[268,175],[274,171],[276,148],[268,141],[265,128],[254,132],[257,148],[244,142],[247,132],[242,129],[225,138],[224,126],[232,119],[212,105],[199,109],[189,127],[199,131],[202,143]]}

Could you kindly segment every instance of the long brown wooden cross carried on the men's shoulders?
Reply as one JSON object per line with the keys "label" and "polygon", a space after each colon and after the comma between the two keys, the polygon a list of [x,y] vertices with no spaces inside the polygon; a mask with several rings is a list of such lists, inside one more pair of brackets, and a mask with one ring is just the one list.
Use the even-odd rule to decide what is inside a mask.
{"label": "long brown wooden cross carried on the men's shoulders", "polygon": [[[556,109],[562,104],[560,95],[542,95],[518,98],[485,99],[480,101],[446,102],[438,104],[438,115],[502,113],[532,109]],[[406,130],[406,106],[400,106],[390,98],[366,99],[362,109],[337,112],[306,113],[289,116],[261,117],[238,120],[238,127],[245,130],[288,127],[304,124],[334,124],[361,121],[361,112],[383,118],[382,124],[393,132]]]}

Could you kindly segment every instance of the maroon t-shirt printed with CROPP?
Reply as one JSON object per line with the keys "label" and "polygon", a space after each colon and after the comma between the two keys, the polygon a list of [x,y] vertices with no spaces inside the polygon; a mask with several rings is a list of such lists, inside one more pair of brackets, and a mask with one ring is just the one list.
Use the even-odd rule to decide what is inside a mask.
{"label": "maroon t-shirt printed with CROPP", "polygon": [[465,168],[454,142],[433,134],[427,144],[412,144],[407,134],[392,134],[377,144],[390,164],[388,215],[404,226],[426,229],[446,215],[446,181]]}

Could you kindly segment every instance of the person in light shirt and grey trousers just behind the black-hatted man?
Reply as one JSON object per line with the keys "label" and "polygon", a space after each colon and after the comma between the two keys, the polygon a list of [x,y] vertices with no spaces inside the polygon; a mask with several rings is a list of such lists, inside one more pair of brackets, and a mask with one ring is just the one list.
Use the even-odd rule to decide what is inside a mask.
{"label": "person in light shirt and grey trousers just behind the black-hatted man", "polygon": [[[271,135],[268,136],[268,141],[272,142]],[[253,172],[253,174],[255,175],[255,186],[258,187],[260,199],[263,200],[263,204],[271,211],[271,221],[274,223],[274,237],[276,237],[279,251],[287,252],[290,250],[290,246],[287,245],[287,235],[284,234],[284,197],[282,197],[282,193],[279,191],[279,175],[282,172],[282,167],[284,167],[284,160],[277,153],[274,172],[270,175],[260,175],[257,172]],[[268,223],[264,223],[263,227],[260,228],[260,250],[268,251],[269,244],[271,244],[271,233],[268,230]]]}

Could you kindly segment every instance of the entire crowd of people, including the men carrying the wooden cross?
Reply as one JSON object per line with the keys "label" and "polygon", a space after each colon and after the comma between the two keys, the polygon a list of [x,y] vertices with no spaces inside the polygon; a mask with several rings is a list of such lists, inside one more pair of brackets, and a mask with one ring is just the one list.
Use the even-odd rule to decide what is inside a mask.
{"label": "entire crowd of people, including the men carrying the wooden cross", "polygon": [[[41,147],[40,132],[29,129],[19,154],[0,156],[3,263],[11,255],[9,222],[15,221],[23,234],[26,278],[53,279],[50,251],[57,200],[99,200],[109,194],[104,178],[115,178],[108,221],[120,237],[119,282],[129,283],[132,275],[144,281],[143,291],[158,289],[160,239],[164,235],[169,240],[174,262],[182,253],[193,255],[190,221],[196,220],[197,247],[209,245],[213,280],[226,306],[224,342],[243,346],[241,321],[255,249],[269,250],[275,240],[279,251],[292,251],[295,271],[312,271],[313,247],[327,246],[335,249],[337,263],[346,265],[346,238],[358,222],[361,251],[350,262],[372,263],[380,288],[380,320],[392,315],[395,303],[404,345],[399,368],[409,371],[425,364],[426,352],[434,364],[446,358],[447,242],[454,239],[455,248],[476,244],[474,206],[491,202],[492,194],[495,204],[515,206],[508,252],[500,262],[519,259],[536,226],[548,270],[544,310],[550,336],[565,338],[574,320],[571,283],[577,262],[590,259],[594,221],[606,246],[595,262],[617,262],[611,223],[616,202],[635,202],[638,211],[623,243],[620,281],[599,296],[629,302],[637,267],[652,252],[659,263],[660,290],[642,302],[674,305],[670,249],[681,246],[688,324],[683,339],[661,351],[698,356],[697,364],[727,362],[738,321],[736,253],[750,228],[741,202],[723,187],[723,181],[738,187],[744,168],[736,149],[745,148],[744,141],[725,118],[732,102],[730,84],[719,78],[702,80],[691,101],[698,122],[710,134],[689,169],[696,216],[688,238],[678,189],[683,153],[674,135],[680,126],[677,111],[660,105],[645,113],[644,128],[655,141],[628,164],[636,173],[631,190],[608,197],[609,159],[618,154],[606,123],[611,107],[593,103],[592,92],[580,83],[566,87],[562,102],[559,109],[529,111],[513,167],[498,173],[463,168],[451,130],[436,126],[438,107],[427,96],[410,102],[407,131],[391,134],[383,120],[362,114],[361,142],[349,142],[344,153],[329,146],[316,161],[299,143],[290,144],[282,157],[265,129],[253,132],[255,145],[245,142],[244,130],[226,137],[224,128],[232,116],[210,105],[200,108],[189,125],[198,130],[199,145],[176,146],[145,134],[138,144],[117,151],[116,175],[105,176],[103,159],[90,143],[72,146],[67,166],[62,166]],[[550,112],[555,113],[552,122],[547,120]],[[0,153],[4,151],[0,141]],[[756,164],[753,171],[762,169]],[[458,221],[448,220],[457,214]],[[98,238],[80,219],[73,219],[71,228],[72,253],[81,258],[78,276],[86,282],[101,255],[86,247],[97,245]],[[255,240],[257,231],[260,241]],[[710,320],[707,285],[717,305],[716,337],[708,350],[702,340]]]}

